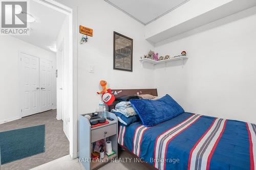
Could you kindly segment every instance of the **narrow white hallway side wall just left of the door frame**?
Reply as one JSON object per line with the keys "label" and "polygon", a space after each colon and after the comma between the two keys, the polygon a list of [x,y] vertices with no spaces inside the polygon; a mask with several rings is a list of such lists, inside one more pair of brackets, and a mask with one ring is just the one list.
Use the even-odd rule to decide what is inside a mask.
{"label": "narrow white hallway side wall just left of the door frame", "polygon": [[[61,117],[61,119],[63,120],[63,131],[65,132],[66,136],[69,139],[69,103],[71,102],[71,99],[69,98],[69,87],[70,87],[70,82],[71,82],[71,78],[70,78],[70,54],[69,54],[69,17],[67,16],[66,19],[63,22],[63,25],[59,31],[57,40],[57,49],[61,48],[62,46],[62,50],[63,50],[63,85],[61,86],[61,82],[60,82],[60,74],[58,74],[58,78],[57,78],[57,113],[59,115],[61,115],[61,113],[59,113],[59,111],[61,110],[61,100],[63,98],[63,117]],[[62,45],[63,43],[63,45]],[[60,70],[60,59],[59,59],[59,52],[57,52],[57,69]],[[59,73],[59,72],[58,72]],[[62,88],[62,90],[60,90],[60,88]],[[61,98],[60,92],[63,92],[63,96]],[[58,118],[58,117],[57,117]],[[59,118],[58,118],[59,119]]]}

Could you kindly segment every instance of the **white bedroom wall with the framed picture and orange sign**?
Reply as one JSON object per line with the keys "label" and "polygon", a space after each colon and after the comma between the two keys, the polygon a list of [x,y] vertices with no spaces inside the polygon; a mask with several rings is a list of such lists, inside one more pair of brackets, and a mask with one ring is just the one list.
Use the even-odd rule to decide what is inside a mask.
{"label": "white bedroom wall with the framed picture and orange sign", "polygon": [[[88,43],[78,44],[78,114],[98,107],[100,96],[96,91],[101,79],[112,89],[154,87],[153,70],[142,68],[139,62],[153,48],[145,40],[141,23],[102,0],[87,0],[79,1],[78,25],[94,31]],[[133,72],[113,69],[113,31],[133,38]],[[78,41],[81,37],[78,33]],[[89,73],[90,65],[94,65],[94,74]]]}

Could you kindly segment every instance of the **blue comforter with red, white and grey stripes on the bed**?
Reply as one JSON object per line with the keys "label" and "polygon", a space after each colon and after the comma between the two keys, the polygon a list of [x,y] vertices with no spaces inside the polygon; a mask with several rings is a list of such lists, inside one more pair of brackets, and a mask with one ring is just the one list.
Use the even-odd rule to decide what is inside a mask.
{"label": "blue comforter with red, white and grey stripes on the bed", "polygon": [[183,113],[153,127],[119,127],[118,143],[157,169],[255,169],[256,126]]}

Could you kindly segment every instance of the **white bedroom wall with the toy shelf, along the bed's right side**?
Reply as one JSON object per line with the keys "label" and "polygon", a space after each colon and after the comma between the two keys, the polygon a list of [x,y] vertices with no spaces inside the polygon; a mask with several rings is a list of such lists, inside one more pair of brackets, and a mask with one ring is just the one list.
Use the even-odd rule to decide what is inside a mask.
{"label": "white bedroom wall with the toy shelf, along the bed's right side", "polygon": [[256,123],[256,15],[176,41],[156,44],[160,55],[183,50],[189,59],[156,66],[156,87],[188,112]]}

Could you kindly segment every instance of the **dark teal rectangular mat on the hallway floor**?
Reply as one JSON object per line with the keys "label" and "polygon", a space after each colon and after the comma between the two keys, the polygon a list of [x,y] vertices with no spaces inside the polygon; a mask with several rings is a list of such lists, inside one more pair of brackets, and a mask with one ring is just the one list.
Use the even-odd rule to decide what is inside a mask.
{"label": "dark teal rectangular mat on the hallway floor", "polygon": [[1,163],[45,152],[45,125],[0,132]]}

